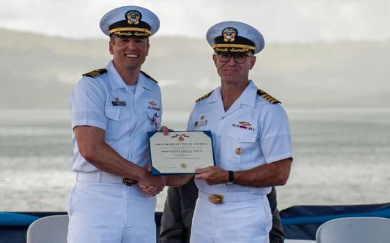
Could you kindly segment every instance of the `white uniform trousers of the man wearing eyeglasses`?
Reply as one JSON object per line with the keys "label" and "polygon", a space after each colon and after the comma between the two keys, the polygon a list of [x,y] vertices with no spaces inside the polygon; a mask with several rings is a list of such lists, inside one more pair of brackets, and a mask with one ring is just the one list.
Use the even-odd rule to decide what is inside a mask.
{"label": "white uniform trousers of the man wearing eyeglasses", "polygon": [[226,193],[224,203],[208,201],[199,191],[192,219],[191,243],[268,243],[272,228],[266,195]]}

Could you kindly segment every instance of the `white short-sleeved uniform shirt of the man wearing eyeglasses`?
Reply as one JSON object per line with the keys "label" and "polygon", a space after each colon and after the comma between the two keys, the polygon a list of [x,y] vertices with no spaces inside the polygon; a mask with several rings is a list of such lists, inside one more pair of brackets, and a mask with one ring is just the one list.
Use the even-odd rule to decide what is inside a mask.
{"label": "white short-sleeved uniform shirt of the man wearing eyeglasses", "polygon": [[[221,88],[196,102],[189,116],[187,130],[210,130],[216,166],[226,171],[242,171],[262,164],[292,157],[290,126],[280,104],[271,104],[257,95],[253,81],[225,112]],[[237,152],[236,152],[237,151]],[[195,180],[208,194],[249,191],[269,194],[271,187],[242,185],[207,185]]]}

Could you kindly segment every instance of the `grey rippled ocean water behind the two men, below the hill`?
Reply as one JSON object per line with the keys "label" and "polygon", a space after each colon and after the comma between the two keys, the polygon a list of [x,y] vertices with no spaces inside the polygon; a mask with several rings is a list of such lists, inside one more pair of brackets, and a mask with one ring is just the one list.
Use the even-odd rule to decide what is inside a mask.
{"label": "grey rippled ocean water behind the two men, below the hill", "polygon": [[[390,109],[286,109],[294,162],[279,208],[390,202]],[[65,211],[71,170],[68,110],[0,111],[0,211]],[[189,111],[165,111],[184,130]],[[164,207],[166,191],[157,196]]]}

